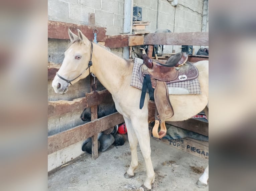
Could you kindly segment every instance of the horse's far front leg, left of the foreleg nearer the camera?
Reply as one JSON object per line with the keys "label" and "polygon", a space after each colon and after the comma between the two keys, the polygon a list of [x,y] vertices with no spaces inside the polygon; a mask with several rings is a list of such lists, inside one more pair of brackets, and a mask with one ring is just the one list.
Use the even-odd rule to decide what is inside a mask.
{"label": "horse's far front leg, left of the foreleg nearer the camera", "polygon": [[137,156],[137,143],[138,139],[137,136],[132,128],[132,123],[131,120],[124,117],[125,125],[127,128],[127,134],[128,134],[128,139],[129,139],[129,144],[131,148],[131,165],[127,172],[124,174],[125,178],[132,178],[134,176],[134,170],[138,166],[138,156]]}

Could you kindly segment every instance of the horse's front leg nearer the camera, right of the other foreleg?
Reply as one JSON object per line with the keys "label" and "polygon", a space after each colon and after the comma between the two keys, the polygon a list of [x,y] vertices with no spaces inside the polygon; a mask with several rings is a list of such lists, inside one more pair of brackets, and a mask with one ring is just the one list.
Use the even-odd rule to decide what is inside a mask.
{"label": "horse's front leg nearer the camera, right of the other foreleg", "polygon": [[[132,126],[137,135],[140,150],[142,152],[143,158],[145,160],[145,165],[147,169],[147,178],[144,181],[144,184],[141,186],[144,190],[151,189],[152,183],[155,180],[155,172],[153,169],[152,161],[151,161],[151,148],[150,148],[150,137],[148,131],[148,122],[147,116],[141,118],[133,118]],[[143,190],[140,189],[140,190]]]}

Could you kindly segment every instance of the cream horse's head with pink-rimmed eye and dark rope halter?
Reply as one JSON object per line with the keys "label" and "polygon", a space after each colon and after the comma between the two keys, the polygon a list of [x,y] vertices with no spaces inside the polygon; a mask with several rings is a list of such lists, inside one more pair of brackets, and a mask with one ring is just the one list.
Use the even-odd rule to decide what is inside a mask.
{"label": "cream horse's head with pink-rimmed eye and dark rope halter", "polygon": [[[65,94],[69,85],[90,74],[93,45],[78,29],[78,36],[69,29],[71,43],[65,51],[65,58],[52,81],[57,94]],[[92,69],[92,68],[91,68]]]}

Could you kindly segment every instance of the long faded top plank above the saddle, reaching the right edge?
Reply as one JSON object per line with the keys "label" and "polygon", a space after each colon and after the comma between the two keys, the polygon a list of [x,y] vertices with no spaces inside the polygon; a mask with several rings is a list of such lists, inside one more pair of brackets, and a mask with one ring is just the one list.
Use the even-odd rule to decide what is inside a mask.
{"label": "long faded top plank above the saddle, reaching the right edge", "polygon": [[209,46],[209,32],[149,33],[145,45],[198,45]]}

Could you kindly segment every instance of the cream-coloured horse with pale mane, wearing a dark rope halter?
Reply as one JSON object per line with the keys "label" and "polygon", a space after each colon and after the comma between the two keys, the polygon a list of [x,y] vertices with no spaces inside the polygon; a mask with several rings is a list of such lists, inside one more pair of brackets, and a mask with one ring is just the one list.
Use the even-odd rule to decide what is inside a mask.
{"label": "cream-coloured horse with pale mane, wearing a dark rope halter", "polygon": [[[137,143],[145,160],[146,179],[140,190],[151,190],[155,173],[151,161],[150,135],[148,130],[147,101],[139,109],[141,90],[130,86],[133,62],[129,62],[107,51],[87,39],[78,29],[78,36],[69,30],[71,43],[65,51],[63,63],[52,81],[52,87],[57,94],[65,94],[68,87],[80,79],[93,73],[101,84],[111,93],[117,111],[123,115],[128,140],[131,149],[131,164],[125,172],[125,178],[132,178],[138,166]],[[199,70],[201,94],[199,95],[169,95],[174,115],[166,121],[182,121],[191,118],[204,110],[208,117],[208,87],[209,63],[199,61],[194,63]],[[146,94],[146,100],[149,95]],[[208,117],[209,118],[209,117]],[[208,185],[209,167],[199,178],[197,185]]]}

